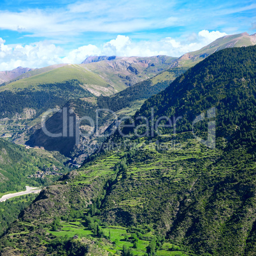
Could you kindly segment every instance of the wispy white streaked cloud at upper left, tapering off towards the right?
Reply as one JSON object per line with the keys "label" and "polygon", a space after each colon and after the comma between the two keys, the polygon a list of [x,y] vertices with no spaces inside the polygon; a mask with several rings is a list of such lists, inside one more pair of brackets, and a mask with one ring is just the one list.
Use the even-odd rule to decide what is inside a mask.
{"label": "wispy white streaked cloud at upper left, tapering off towards the right", "polygon": [[145,0],[121,1],[118,4],[113,0],[97,0],[53,10],[0,11],[0,29],[53,39],[90,31],[124,33],[156,29],[174,23],[176,18],[164,17],[167,15],[159,18],[155,8],[151,11],[153,5]]}

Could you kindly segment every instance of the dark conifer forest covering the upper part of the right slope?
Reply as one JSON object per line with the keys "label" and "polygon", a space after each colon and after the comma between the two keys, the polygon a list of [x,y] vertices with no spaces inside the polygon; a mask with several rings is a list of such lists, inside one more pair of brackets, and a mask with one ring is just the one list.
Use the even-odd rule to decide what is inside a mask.
{"label": "dark conifer forest covering the upper part of the right slope", "polygon": [[[234,130],[238,136],[244,129],[248,131],[248,125],[252,127],[255,122],[255,46],[229,48],[224,52],[225,55],[223,52],[211,55],[181,75],[166,90],[151,97],[135,118],[139,115],[149,118],[153,108],[155,120],[164,115],[182,117],[176,131],[192,131],[194,118],[215,107],[217,137],[226,138]],[[206,124],[203,122],[202,125]],[[204,128],[202,125],[200,129]]]}

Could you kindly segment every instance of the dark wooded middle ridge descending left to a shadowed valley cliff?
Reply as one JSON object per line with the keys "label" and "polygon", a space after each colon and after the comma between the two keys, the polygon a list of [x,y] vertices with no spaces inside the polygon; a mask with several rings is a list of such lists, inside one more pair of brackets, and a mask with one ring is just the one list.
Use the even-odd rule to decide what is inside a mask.
{"label": "dark wooded middle ridge descending left to a shadowed valley cliff", "polygon": [[[77,118],[90,117],[96,124],[97,110],[99,111],[99,127],[104,132],[106,129],[111,129],[111,124],[115,120],[115,117],[121,118],[124,115],[133,115],[135,111],[139,110],[141,104],[153,96],[166,89],[177,76],[183,74],[187,69],[185,68],[173,68],[165,71],[166,80],[162,81],[161,78],[155,76],[154,82],[152,79],[145,80],[144,82],[132,85],[122,92],[118,92],[113,96],[99,96],[99,97],[84,97],[82,99],[72,99],[64,108],[74,111]],[[161,75],[159,75],[161,77]],[[69,112],[69,111],[68,111]],[[113,113],[115,112],[115,113]],[[75,120],[75,115],[71,114]],[[56,113],[46,121],[46,127],[48,131],[53,134],[61,132],[63,129],[63,115],[62,110]],[[84,120],[81,125],[92,125],[88,120]],[[68,125],[69,126],[69,125]],[[75,128],[75,124],[73,124]],[[94,129],[94,127],[92,127]],[[29,134],[29,139],[26,141],[27,145],[31,146],[44,146],[47,150],[57,150],[67,157],[72,157],[83,162],[85,157],[94,153],[94,150],[98,149],[90,147],[92,141],[98,141],[102,143],[103,139],[95,136],[96,132],[92,132],[89,138],[82,139],[80,145],[75,145],[76,138],[73,136],[52,138],[47,136],[43,129],[39,128],[36,131],[32,130],[33,134]],[[90,128],[82,132],[89,132]],[[30,132],[30,131],[29,131]],[[102,133],[103,133],[102,132]],[[73,132],[75,134],[75,131]]]}

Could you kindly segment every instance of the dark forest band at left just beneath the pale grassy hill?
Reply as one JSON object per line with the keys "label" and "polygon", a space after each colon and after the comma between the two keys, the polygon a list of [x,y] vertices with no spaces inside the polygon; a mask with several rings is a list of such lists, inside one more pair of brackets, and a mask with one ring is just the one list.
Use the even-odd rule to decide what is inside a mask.
{"label": "dark forest band at left just beneath the pale grassy hill", "polygon": [[[48,83],[37,87],[3,90],[0,92],[1,118],[12,118],[22,114],[25,108],[36,110],[36,117],[50,108],[62,107],[69,99],[93,96],[89,90],[82,89],[78,80],[63,83]],[[15,104],[13,104],[15,103]]]}

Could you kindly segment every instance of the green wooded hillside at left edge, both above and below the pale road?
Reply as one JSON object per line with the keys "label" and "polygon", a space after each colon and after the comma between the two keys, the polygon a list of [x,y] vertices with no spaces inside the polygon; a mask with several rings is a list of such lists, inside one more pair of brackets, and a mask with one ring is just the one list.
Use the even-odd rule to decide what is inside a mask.
{"label": "green wooded hillside at left edge, both above and below the pale road", "polygon": [[[70,171],[64,166],[67,161],[58,152],[39,149],[25,149],[4,139],[0,139],[0,197],[4,194],[25,191],[25,185],[44,187],[59,180],[59,174]],[[38,174],[38,172],[40,174]],[[52,172],[55,174],[53,175]],[[26,195],[8,199],[0,203],[0,234],[17,219],[20,211],[29,206],[36,195]]]}

